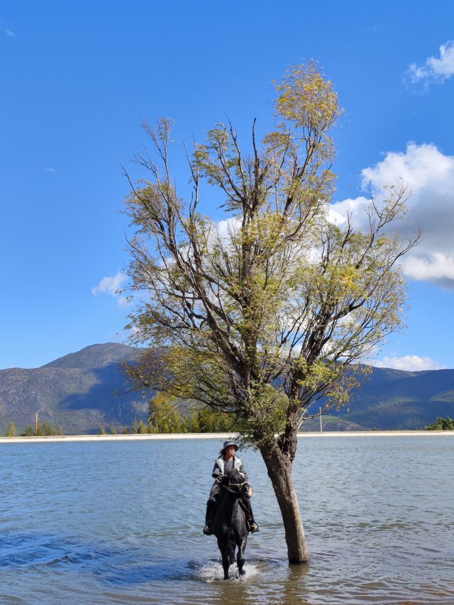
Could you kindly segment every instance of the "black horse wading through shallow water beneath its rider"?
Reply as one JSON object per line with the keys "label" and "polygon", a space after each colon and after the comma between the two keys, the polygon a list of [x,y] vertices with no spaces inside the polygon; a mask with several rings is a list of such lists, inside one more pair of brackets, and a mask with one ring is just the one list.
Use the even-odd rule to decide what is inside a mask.
{"label": "black horse wading through shallow water beneath its rider", "polygon": [[250,487],[245,477],[238,469],[224,474],[221,494],[213,515],[213,533],[218,538],[218,547],[222,555],[224,579],[228,579],[228,568],[235,562],[235,549],[238,548],[236,562],[239,575],[245,575],[243,570],[244,551],[248,542],[248,526],[241,496],[250,496]]}

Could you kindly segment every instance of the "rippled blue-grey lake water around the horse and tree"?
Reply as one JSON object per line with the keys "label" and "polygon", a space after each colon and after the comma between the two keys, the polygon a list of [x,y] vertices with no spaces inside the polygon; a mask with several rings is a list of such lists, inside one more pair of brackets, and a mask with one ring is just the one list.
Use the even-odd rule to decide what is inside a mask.
{"label": "rippled blue-grey lake water around the horse and tree", "polygon": [[242,452],[260,532],[228,582],[201,533],[220,445],[0,444],[0,603],[453,605],[454,438],[301,438],[301,567],[260,455]]}

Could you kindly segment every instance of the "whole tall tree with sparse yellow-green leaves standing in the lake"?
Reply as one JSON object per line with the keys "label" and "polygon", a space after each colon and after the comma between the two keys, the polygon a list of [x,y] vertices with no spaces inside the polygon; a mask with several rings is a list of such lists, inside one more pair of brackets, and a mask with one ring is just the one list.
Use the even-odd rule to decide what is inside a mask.
{"label": "whole tall tree with sparse yellow-green leaves standing in the lake", "polygon": [[[341,112],[314,62],[277,83],[275,107],[260,145],[255,120],[246,150],[230,122],[194,143],[189,199],[170,173],[170,121],[145,125],[155,155],[135,156],[148,179],[128,177],[126,200],[128,275],[142,299],[128,327],[160,351],[135,368],[142,384],[238,418],[265,461],[289,562],[301,563],[309,551],[292,479],[297,431],[320,404],[324,412],[348,400],[359,362],[401,324],[397,261],[419,234],[392,231],[409,196],[399,185],[371,200],[363,231],[350,217],[330,221],[328,131]],[[207,185],[223,194],[220,223],[199,211]]]}

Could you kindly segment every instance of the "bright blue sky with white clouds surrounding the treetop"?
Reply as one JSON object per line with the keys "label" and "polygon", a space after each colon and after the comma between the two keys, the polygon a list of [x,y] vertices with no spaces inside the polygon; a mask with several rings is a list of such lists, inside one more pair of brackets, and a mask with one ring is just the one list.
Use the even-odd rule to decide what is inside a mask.
{"label": "bright blue sky with white clouds surrounding the treetop", "polygon": [[[404,270],[408,328],[377,363],[454,367],[454,5],[111,0],[0,4],[0,368],[38,367],[80,348],[124,342],[114,294],[128,264],[121,165],[140,123],[171,116],[181,140],[226,113],[244,138],[270,125],[274,89],[314,57],[345,115],[334,133],[343,209],[362,184],[402,175],[409,216],[426,232]],[[353,200],[348,202],[345,200]],[[208,206],[207,206],[208,207]]]}

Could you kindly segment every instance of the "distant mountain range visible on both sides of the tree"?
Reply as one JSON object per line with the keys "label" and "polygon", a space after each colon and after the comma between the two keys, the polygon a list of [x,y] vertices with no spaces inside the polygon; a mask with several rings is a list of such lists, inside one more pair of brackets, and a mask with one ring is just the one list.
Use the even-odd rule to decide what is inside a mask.
{"label": "distant mountain range visible on both sides of the tree", "polygon": [[[0,370],[0,431],[54,421],[65,434],[98,433],[99,426],[147,420],[151,392],[132,389],[122,364],[142,350],[118,343],[92,345],[33,370]],[[318,406],[316,406],[318,410]],[[316,411],[314,410],[314,411]],[[454,370],[402,372],[375,367],[350,404],[323,416],[335,431],[423,428],[437,416],[454,418]],[[319,418],[304,430],[319,430]]]}

